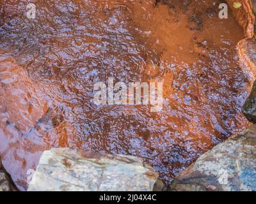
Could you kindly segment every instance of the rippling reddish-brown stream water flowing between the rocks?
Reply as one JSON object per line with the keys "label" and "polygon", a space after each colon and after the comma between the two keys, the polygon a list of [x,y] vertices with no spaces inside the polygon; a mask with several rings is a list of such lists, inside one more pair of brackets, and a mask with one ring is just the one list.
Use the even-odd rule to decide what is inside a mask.
{"label": "rippling reddish-brown stream water flowing between the rocks", "polygon": [[[0,154],[20,189],[45,149],[132,154],[170,184],[248,126],[243,31],[213,0],[0,3]],[[93,103],[93,85],[164,82],[163,110]]]}

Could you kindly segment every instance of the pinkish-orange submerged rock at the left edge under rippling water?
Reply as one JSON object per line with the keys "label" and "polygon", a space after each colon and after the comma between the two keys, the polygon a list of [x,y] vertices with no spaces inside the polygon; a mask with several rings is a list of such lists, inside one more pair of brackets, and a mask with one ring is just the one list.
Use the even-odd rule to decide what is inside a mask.
{"label": "pinkish-orange submerged rock at the left edge under rippling water", "polygon": [[35,84],[12,57],[0,57],[0,128],[27,133],[48,110]]}

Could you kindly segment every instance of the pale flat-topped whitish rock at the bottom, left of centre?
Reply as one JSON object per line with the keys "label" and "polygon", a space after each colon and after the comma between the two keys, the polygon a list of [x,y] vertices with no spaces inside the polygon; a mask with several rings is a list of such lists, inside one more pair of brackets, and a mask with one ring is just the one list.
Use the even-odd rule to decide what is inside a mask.
{"label": "pale flat-topped whitish rock at the bottom, left of centre", "polygon": [[152,191],[157,177],[137,157],[51,149],[40,158],[28,191]]}

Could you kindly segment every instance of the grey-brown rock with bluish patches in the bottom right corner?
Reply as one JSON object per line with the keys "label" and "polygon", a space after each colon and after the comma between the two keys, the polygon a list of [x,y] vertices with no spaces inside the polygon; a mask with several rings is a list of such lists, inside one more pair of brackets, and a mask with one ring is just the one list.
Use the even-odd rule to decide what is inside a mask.
{"label": "grey-brown rock with bluish patches in the bottom right corner", "polygon": [[214,147],[173,180],[172,191],[256,191],[256,126]]}

